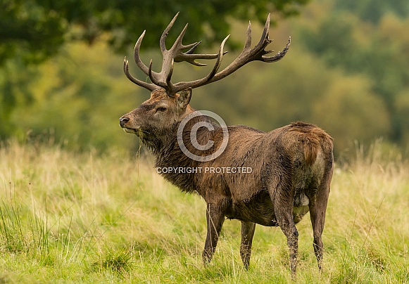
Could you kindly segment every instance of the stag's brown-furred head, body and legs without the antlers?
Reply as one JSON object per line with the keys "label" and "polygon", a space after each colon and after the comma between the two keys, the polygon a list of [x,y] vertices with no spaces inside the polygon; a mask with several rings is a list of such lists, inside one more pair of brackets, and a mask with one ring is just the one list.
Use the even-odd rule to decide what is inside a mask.
{"label": "stag's brown-furred head, body and legs without the antlers", "polygon": [[[208,233],[203,261],[215,252],[225,218],[241,221],[240,254],[247,268],[255,224],[279,226],[287,236],[291,272],[296,273],[298,231],[295,224],[310,212],[313,224],[313,247],[321,268],[322,231],[333,171],[332,138],[313,124],[294,122],[268,133],[245,126],[230,126],[225,151],[215,160],[197,162],[182,153],[177,143],[177,127],[194,112],[189,106],[191,89],[175,96],[156,90],[139,108],[120,118],[125,131],[137,134],[156,157],[156,167],[230,167],[251,168],[250,173],[163,173],[162,175],[188,193],[198,193],[206,200]],[[222,143],[222,129],[200,128],[197,140],[209,139],[214,145],[206,153],[189,144],[189,129],[194,123],[208,121],[196,117],[187,124],[183,139],[196,155],[217,150]],[[195,152],[196,151],[196,152]]]}

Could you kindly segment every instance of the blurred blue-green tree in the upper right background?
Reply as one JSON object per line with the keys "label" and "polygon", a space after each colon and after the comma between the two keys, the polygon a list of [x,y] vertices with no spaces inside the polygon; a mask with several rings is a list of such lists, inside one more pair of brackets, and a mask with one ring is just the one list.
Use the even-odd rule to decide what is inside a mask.
{"label": "blurred blue-green tree in the upper right background", "polygon": [[[329,67],[341,68],[348,75],[366,77],[371,93],[382,99],[382,105],[378,103],[380,109],[362,105],[362,110],[372,110],[374,115],[379,115],[382,125],[387,117],[390,131],[384,131],[383,136],[405,145],[407,119],[401,115],[405,103],[398,106],[398,101],[409,87],[409,39],[403,32],[408,25],[408,1],[334,2],[334,7],[325,13],[315,11],[314,22],[308,21],[308,25],[298,28],[303,45]],[[371,14],[378,17],[372,22],[365,22],[368,19],[364,14],[353,13],[360,8],[371,13],[371,9],[363,8],[367,6],[379,12]],[[373,122],[378,123],[377,120]]]}

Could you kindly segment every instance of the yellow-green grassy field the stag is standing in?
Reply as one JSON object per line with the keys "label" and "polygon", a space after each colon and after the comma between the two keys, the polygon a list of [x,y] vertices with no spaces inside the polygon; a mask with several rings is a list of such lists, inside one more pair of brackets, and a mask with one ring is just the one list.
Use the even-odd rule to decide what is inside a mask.
{"label": "yellow-green grassy field the stag is standing in", "polygon": [[[409,283],[409,164],[375,143],[336,165],[324,271],[307,215],[299,283]],[[239,221],[226,221],[202,265],[205,202],[164,181],[149,158],[0,146],[0,283],[287,283],[287,241],[256,227],[251,268]]]}

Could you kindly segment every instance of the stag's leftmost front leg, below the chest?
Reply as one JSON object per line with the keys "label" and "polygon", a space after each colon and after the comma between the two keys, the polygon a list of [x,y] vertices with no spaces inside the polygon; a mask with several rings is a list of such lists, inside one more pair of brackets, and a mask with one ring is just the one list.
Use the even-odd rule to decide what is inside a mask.
{"label": "stag's leftmost front leg, below the chest", "polygon": [[206,265],[213,258],[213,254],[218,245],[220,230],[225,221],[225,214],[222,207],[208,203],[206,209],[206,221],[208,233],[206,235],[206,243],[203,250],[203,263]]}

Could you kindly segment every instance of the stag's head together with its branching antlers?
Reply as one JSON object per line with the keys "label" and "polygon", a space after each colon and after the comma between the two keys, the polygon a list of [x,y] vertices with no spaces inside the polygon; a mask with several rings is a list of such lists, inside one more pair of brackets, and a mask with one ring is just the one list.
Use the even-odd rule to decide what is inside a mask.
{"label": "stag's head together with its branching antlers", "polygon": [[[139,108],[120,117],[120,127],[122,127],[128,133],[133,133],[140,136],[142,141],[148,144],[148,146],[153,146],[153,143],[158,143],[158,137],[161,137],[162,134],[169,133],[169,131],[171,131],[171,129],[173,129],[177,123],[182,121],[184,117],[194,111],[189,106],[191,89],[223,79],[232,74],[234,71],[238,70],[241,66],[254,60],[260,60],[266,63],[276,62],[285,56],[291,43],[291,38],[289,38],[287,45],[281,52],[275,54],[275,56],[267,56],[269,53],[272,53],[272,51],[265,50],[268,44],[272,42],[272,40],[268,37],[268,29],[270,27],[269,14],[267,21],[265,22],[263,34],[261,35],[261,39],[258,44],[251,49],[251,23],[249,22],[243,51],[241,51],[240,55],[232,63],[225,67],[225,69],[219,71],[222,58],[225,53],[227,53],[227,51],[224,51],[224,46],[225,42],[229,38],[229,35],[220,44],[220,49],[217,54],[195,54],[194,51],[199,46],[201,41],[188,45],[182,44],[182,39],[187,30],[187,25],[185,25],[173,46],[169,50],[166,49],[165,39],[178,14],[179,13],[175,15],[161,36],[160,46],[163,54],[161,72],[154,72],[152,70],[152,60],[149,63],[149,67],[147,67],[139,56],[139,49],[146,31],[141,34],[137,44],[135,44],[134,61],[137,66],[149,77],[151,83],[141,81],[130,75],[128,60],[126,57],[124,59],[123,68],[127,78],[134,82],[134,84],[151,91],[151,98],[142,103]],[[178,63],[186,61],[187,63],[196,66],[206,65],[196,62],[198,59],[215,59],[213,69],[206,77],[196,79],[191,82],[178,82],[175,84],[171,82],[173,65],[175,62]],[[158,145],[156,145],[156,147],[157,146]]]}

